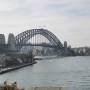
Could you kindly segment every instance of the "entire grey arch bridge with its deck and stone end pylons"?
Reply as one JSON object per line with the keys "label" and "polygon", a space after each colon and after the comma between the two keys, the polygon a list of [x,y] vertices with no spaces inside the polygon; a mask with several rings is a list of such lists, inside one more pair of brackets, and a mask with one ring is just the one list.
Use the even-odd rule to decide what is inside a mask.
{"label": "entire grey arch bridge with its deck and stone end pylons", "polygon": [[[70,48],[67,47],[67,42],[64,44],[47,29],[30,29],[21,32],[17,36],[12,33],[8,36],[8,42],[5,42],[4,34],[0,34],[0,45],[4,50],[26,52],[31,50],[31,47],[43,47],[44,50],[49,49],[57,53],[70,53]],[[5,49],[6,48],[6,49]],[[1,51],[4,51],[3,49]]]}

